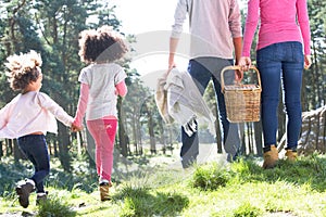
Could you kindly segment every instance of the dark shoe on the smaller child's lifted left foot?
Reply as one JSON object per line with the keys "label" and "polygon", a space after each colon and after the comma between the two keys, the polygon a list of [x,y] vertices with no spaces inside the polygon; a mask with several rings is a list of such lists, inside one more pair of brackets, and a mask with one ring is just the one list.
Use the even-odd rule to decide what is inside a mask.
{"label": "dark shoe on the smaller child's lifted left foot", "polygon": [[21,206],[27,208],[29,205],[29,194],[35,190],[35,182],[32,179],[25,179],[17,183],[16,193]]}

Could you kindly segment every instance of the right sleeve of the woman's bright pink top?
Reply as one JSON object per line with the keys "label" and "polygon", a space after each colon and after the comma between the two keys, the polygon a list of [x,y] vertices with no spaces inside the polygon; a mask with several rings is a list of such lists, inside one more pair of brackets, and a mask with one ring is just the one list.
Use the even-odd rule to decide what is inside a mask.
{"label": "right sleeve of the woman's bright pink top", "polygon": [[306,0],[297,1],[297,14],[298,14],[298,23],[303,39],[304,54],[309,55],[311,53],[310,50],[311,33],[310,33]]}

